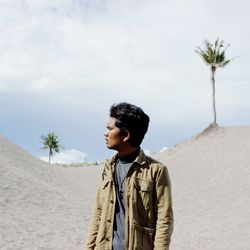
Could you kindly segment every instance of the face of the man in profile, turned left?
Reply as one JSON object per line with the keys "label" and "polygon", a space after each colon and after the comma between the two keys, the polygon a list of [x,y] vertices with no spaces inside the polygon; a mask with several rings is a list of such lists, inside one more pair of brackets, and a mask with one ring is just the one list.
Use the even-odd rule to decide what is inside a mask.
{"label": "face of the man in profile, turned left", "polygon": [[106,146],[109,149],[119,151],[121,146],[124,144],[124,136],[120,134],[120,129],[116,127],[116,119],[113,117],[110,117],[108,121],[104,136],[106,140]]}

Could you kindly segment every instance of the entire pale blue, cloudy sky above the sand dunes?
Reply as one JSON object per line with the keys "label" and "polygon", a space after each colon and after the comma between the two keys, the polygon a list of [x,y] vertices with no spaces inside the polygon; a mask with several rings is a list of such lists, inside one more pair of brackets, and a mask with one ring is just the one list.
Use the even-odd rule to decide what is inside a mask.
{"label": "entire pale blue, cloudy sky above the sand dunes", "polygon": [[[0,133],[35,156],[55,131],[63,159],[110,157],[111,104],[151,118],[142,147],[157,152],[212,121],[204,39],[239,56],[216,75],[218,123],[250,124],[247,0],[0,0]],[[59,157],[60,158],[60,157]],[[65,160],[66,161],[66,160]]]}

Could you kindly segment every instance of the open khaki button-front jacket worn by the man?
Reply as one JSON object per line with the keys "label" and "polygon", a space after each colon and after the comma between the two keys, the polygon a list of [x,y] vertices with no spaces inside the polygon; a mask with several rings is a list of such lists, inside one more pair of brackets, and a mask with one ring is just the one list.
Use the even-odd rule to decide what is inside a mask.
{"label": "open khaki button-front jacket worn by the man", "polygon": [[[104,166],[86,249],[112,250],[117,156]],[[125,180],[125,249],[168,250],[173,231],[167,168],[140,150]]]}

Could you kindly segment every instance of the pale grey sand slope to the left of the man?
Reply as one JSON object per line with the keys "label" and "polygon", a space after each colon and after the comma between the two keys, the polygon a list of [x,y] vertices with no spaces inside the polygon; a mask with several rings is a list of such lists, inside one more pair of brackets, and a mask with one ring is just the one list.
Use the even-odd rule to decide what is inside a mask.
{"label": "pale grey sand slope to the left of the man", "polygon": [[0,136],[0,249],[84,249],[99,169],[50,166]]}

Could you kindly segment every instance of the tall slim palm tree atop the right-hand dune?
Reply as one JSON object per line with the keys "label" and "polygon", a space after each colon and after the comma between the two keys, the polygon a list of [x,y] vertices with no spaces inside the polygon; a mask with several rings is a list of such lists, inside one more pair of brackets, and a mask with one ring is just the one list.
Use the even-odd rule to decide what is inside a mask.
{"label": "tall slim palm tree atop the right-hand dune", "polygon": [[216,126],[216,107],[215,107],[215,73],[217,68],[224,68],[226,65],[229,64],[234,58],[226,59],[225,52],[230,44],[227,44],[224,46],[224,41],[217,39],[214,44],[209,42],[208,40],[205,40],[205,49],[201,49],[200,47],[197,47],[195,50],[196,53],[198,53],[205,64],[207,64],[210,67],[210,78],[211,78],[211,84],[212,84],[212,109],[213,109],[213,122],[211,125]]}

